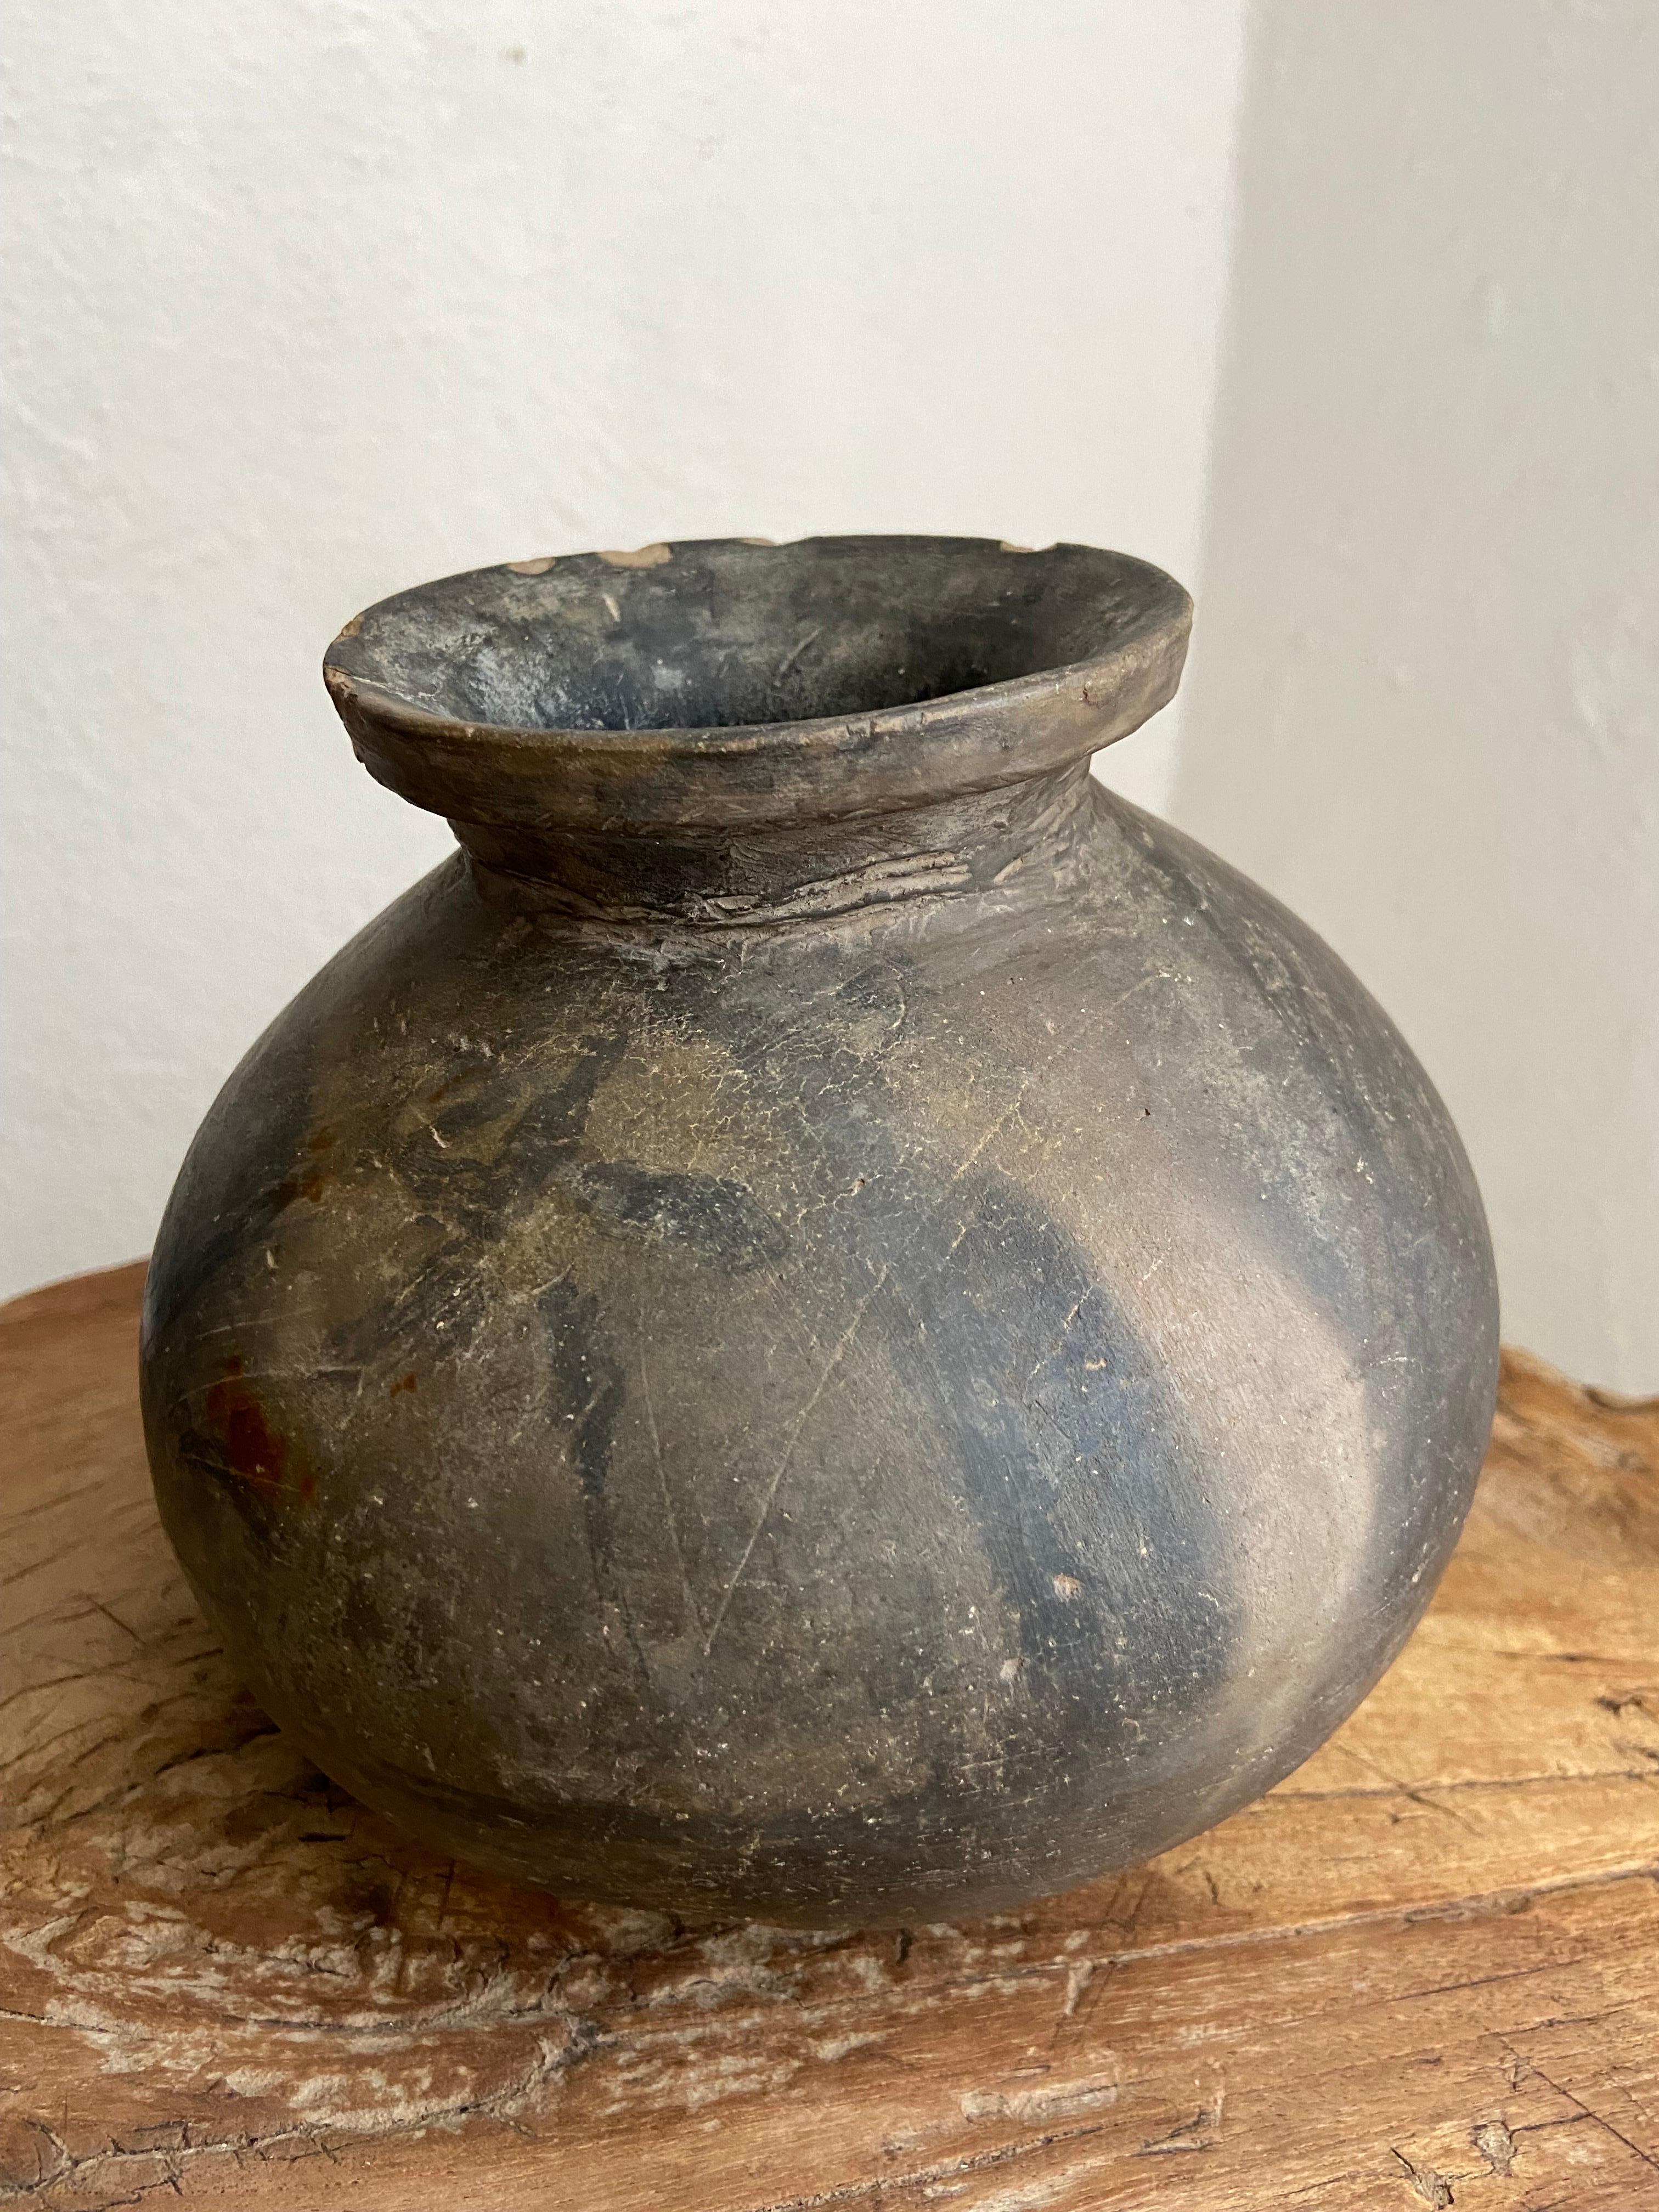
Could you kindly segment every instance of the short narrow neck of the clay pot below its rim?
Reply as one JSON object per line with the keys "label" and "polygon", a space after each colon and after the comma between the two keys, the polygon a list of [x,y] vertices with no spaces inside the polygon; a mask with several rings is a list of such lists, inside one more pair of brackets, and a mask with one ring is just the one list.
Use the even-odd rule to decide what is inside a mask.
{"label": "short narrow neck of the clay pot below its rim", "polygon": [[451,821],[493,905],[624,929],[741,931],[865,907],[1042,896],[1091,821],[1088,761],[880,814],[604,832]]}

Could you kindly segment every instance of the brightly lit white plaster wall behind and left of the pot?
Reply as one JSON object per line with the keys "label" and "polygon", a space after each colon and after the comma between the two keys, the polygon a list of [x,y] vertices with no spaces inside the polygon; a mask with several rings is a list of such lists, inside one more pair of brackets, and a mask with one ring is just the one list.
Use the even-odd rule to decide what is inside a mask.
{"label": "brightly lit white plaster wall behind and left of the pot", "polygon": [[447,847],[334,726],[354,608],[721,531],[1194,568],[1241,0],[11,0],[7,44],[0,1292],[142,1252]]}

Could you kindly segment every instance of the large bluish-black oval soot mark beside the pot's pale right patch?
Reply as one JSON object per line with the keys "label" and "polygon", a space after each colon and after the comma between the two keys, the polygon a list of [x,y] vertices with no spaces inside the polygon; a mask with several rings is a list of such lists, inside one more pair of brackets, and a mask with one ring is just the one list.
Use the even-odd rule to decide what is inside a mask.
{"label": "large bluish-black oval soot mark beside the pot's pale right patch", "polygon": [[1225,1588],[1225,1571],[1186,1425],[1066,1232],[995,1170],[962,1194],[969,1225],[949,1256],[949,1219],[925,1190],[872,1212],[927,1323],[896,1314],[891,1358],[951,1444],[942,1469],[1013,1606],[1026,1679],[1046,1681],[1084,1736],[1110,1710],[1130,1750],[1155,1712],[1228,1670],[1232,1624],[1190,1604]]}

